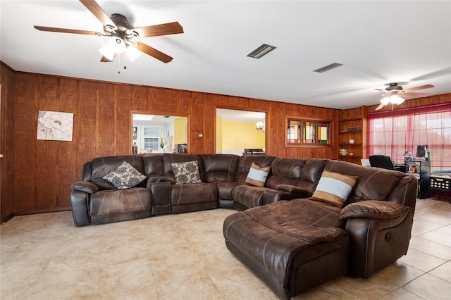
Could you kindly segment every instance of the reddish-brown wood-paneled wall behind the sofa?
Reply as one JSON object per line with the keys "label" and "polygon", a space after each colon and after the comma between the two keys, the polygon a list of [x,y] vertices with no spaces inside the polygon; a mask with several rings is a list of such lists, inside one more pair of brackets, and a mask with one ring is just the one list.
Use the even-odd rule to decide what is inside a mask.
{"label": "reddish-brown wood-paneled wall behind the sofa", "polygon": [[[215,151],[216,108],[267,112],[266,151],[270,155],[337,158],[338,154],[335,142],[332,146],[285,146],[286,116],[331,120],[335,126],[338,111],[331,108],[16,73],[5,65],[1,65],[1,75],[2,106],[6,101],[11,109],[5,120],[9,133],[2,140],[11,145],[11,154],[13,151],[1,182],[2,211],[4,206],[12,209],[1,214],[1,221],[8,212],[23,215],[70,209],[70,185],[81,179],[83,163],[97,156],[131,154],[130,111],[188,113],[188,149],[194,154]],[[41,110],[73,113],[73,141],[37,140],[37,113]],[[2,165],[2,173],[4,170]],[[4,185],[10,192],[4,192]]]}

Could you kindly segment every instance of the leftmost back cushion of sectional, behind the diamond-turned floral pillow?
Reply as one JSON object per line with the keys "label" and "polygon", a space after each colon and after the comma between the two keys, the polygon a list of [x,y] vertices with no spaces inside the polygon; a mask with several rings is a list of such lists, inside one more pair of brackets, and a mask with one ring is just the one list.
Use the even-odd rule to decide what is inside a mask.
{"label": "leftmost back cushion of sectional, behind the diamond-turned floral pillow", "polygon": [[[116,187],[105,180],[103,177],[115,171],[124,161],[130,163],[138,172],[144,174],[144,161],[142,156],[106,156],[97,157],[91,161],[91,182],[99,187],[99,189],[116,189]],[[143,180],[136,187],[146,187],[147,180]]]}

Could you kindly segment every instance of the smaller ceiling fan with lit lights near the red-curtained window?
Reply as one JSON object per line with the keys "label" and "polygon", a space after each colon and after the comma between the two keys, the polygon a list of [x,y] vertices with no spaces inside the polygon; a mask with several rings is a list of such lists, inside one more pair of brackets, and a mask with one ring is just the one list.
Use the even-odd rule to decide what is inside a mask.
{"label": "smaller ceiling fan with lit lights near the red-curtained window", "polygon": [[385,89],[376,89],[376,91],[382,91],[384,94],[381,96],[384,96],[383,99],[381,99],[381,104],[376,108],[376,111],[383,108],[385,105],[391,103],[391,104],[402,104],[405,99],[402,98],[402,96],[417,96],[417,97],[424,97],[428,96],[429,94],[426,93],[412,93],[414,91],[418,91],[419,89],[430,89],[431,87],[434,87],[433,85],[421,85],[419,87],[411,87],[410,89],[403,89],[400,84],[407,84],[407,82],[393,82],[393,83],[387,83],[388,87],[385,87]]}

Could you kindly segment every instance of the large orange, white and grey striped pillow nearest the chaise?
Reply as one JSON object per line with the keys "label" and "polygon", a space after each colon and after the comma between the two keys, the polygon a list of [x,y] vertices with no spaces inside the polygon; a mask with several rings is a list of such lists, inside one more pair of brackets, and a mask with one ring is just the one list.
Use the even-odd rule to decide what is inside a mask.
{"label": "large orange, white and grey striped pillow nearest the chaise", "polygon": [[357,182],[357,176],[323,171],[316,190],[310,199],[342,207],[347,196],[350,195],[355,182]]}

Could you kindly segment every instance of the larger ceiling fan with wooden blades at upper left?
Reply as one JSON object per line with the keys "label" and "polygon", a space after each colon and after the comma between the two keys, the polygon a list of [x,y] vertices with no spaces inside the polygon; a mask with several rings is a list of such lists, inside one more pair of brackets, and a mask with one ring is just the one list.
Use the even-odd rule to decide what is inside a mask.
{"label": "larger ceiling fan with wooden blades at upper left", "polygon": [[[161,35],[174,35],[183,33],[183,27],[178,22],[151,25],[135,28],[130,21],[120,13],[113,13],[111,17],[94,0],[80,0],[80,2],[104,25],[104,33],[87,30],[75,30],[56,27],[36,26],[37,30],[49,32],[75,33],[78,35],[97,35],[98,37],[111,37],[109,44],[101,48],[102,62],[111,62],[116,54],[127,50],[131,53],[139,51],[152,56],[163,63],[172,61],[172,57],[137,40],[138,37],[156,37]],[[136,51],[138,50],[138,51]],[[131,54],[131,56],[134,56]],[[130,57],[131,57],[130,56]]]}

